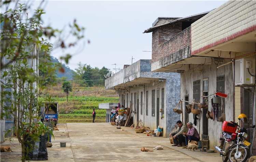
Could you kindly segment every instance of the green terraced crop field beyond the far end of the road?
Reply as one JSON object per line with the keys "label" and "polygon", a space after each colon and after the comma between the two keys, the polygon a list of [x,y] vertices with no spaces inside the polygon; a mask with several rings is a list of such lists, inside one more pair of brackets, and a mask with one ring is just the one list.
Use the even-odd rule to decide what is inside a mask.
{"label": "green terraced crop field beyond the far end of the road", "polygon": [[[39,99],[42,102],[44,98]],[[105,96],[69,96],[55,97],[52,102],[58,102],[58,123],[91,123],[93,109],[96,109],[96,123],[106,121],[106,110],[99,109],[101,103],[118,103],[118,97]]]}

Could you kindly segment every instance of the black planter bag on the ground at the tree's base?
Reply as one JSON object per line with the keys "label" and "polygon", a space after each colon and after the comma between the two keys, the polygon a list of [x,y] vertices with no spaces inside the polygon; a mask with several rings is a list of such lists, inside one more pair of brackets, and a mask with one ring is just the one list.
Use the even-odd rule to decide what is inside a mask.
{"label": "black planter bag on the ground at the tree's base", "polygon": [[28,143],[25,143],[25,147],[30,147],[33,149],[33,151],[28,152],[28,155],[27,150],[25,151],[25,156],[27,155],[28,157],[28,159],[26,160],[48,160],[46,137],[48,137],[47,134],[45,134],[44,136],[39,136],[37,141],[35,142],[32,140],[31,137],[27,138],[27,141],[29,141],[29,144],[32,144],[32,146],[30,146]]}

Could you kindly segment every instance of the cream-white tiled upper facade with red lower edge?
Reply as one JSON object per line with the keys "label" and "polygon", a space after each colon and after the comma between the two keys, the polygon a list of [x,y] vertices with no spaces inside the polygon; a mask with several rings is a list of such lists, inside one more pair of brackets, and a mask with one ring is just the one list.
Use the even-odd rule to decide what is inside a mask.
{"label": "cream-white tiled upper facade with red lower edge", "polygon": [[[191,51],[256,25],[256,1],[228,1],[191,24]],[[233,35],[235,36],[235,35]],[[213,44],[214,46],[214,44]]]}

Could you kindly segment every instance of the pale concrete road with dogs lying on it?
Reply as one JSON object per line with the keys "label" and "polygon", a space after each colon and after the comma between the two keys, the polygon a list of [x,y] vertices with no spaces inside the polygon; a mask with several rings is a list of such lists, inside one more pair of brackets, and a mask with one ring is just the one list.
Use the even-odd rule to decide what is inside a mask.
{"label": "pale concrete road with dogs lying on it", "polygon": [[[134,129],[122,127],[116,129],[110,123],[67,123],[57,125],[53,146],[47,148],[48,162],[80,162],[80,161],[173,161],[193,162],[204,161],[212,157],[212,161],[219,161],[221,157],[215,152],[203,153],[187,151],[186,149],[172,148],[169,139],[163,137],[147,137],[142,133],[135,133]],[[21,156],[21,147],[18,141],[4,142],[1,146],[10,146],[13,152],[1,152],[1,162],[15,162]],[[66,142],[66,147],[60,147],[60,142]],[[163,150],[142,152],[146,147],[153,150],[158,145]],[[170,148],[169,148],[170,147]],[[174,148],[174,147],[173,147]],[[189,153],[184,154],[182,151]],[[200,159],[202,158],[202,160]],[[214,158],[215,159],[214,159]],[[221,160],[222,161],[222,160]]]}

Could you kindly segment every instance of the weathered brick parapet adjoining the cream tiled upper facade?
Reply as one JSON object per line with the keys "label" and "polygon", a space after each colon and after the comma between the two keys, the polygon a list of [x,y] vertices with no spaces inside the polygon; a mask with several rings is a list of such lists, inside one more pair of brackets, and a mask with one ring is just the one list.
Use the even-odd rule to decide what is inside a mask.
{"label": "weathered brick parapet adjoining the cream tiled upper facade", "polygon": [[[177,32],[177,30],[173,30],[172,28],[169,30],[173,31],[173,33]],[[168,33],[168,32],[165,32],[165,33]],[[162,39],[158,40],[158,43],[159,43],[158,46],[156,46],[155,44],[157,40],[155,40],[156,38],[154,36],[155,35],[153,34],[152,50],[154,51],[152,51],[152,62],[159,61],[168,56],[168,62],[164,62],[164,64],[168,64],[168,63],[173,63],[174,60],[179,61],[181,59],[184,59],[190,56],[191,27],[183,30],[182,32],[179,32],[176,35],[172,35],[172,37],[164,43],[159,43],[160,41],[163,42],[164,40],[162,37],[159,37]]]}

